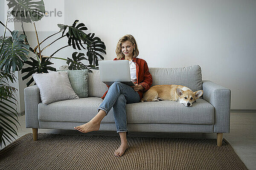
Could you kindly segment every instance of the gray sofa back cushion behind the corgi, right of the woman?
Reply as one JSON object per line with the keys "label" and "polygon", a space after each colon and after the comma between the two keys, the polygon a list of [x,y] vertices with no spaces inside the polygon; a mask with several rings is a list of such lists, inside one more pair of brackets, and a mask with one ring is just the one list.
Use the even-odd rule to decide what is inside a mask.
{"label": "gray sofa back cushion behind the corgi, right of the woman", "polygon": [[192,91],[202,90],[202,73],[199,65],[181,68],[149,68],[154,85],[184,85]]}

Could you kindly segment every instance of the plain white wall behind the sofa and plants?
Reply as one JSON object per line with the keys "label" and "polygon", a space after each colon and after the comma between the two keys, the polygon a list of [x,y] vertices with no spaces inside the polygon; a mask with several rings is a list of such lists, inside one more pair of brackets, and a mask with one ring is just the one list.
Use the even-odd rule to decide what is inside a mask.
{"label": "plain white wall behind the sofa and plants", "polygon": [[[51,5],[62,10],[62,3]],[[232,109],[256,109],[256,1],[255,0],[64,0],[63,24],[78,19],[107,47],[106,60],[115,57],[116,43],[125,34],[137,40],[140,58],[149,67],[183,67],[198,64],[203,79],[232,91]],[[37,22],[39,38],[52,34],[46,17]],[[45,24],[47,23],[47,24]],[[30,25],[31,26],[31,25]],[[28,28],[29,25],[26,25]],[[45,30],[45,31],[44,31]],[[56,26],[56,30],[58,27]],[[35,33],[29,32],[31,44]],[[67,39],[66,39],[67,40]],[[65,40],[48,48],[50,55]],[[47,44],[47,43],[46,43]],[[71,57],[66,48],[56,57]],[[86,51],[83,51],[86,53]],[[52,59],[55,68],[65,62]]]}

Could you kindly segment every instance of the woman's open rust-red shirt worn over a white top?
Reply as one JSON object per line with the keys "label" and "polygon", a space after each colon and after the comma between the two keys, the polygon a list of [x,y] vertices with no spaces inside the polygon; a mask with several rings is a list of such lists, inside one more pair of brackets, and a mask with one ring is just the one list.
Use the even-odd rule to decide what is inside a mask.
{"label": "woman's open rust-red shirt worn over a white top", "polygon": [[[123,59],[124,59],[124,57],[121,60],[123,60]],[[117,60],[117,58],[114,58],[113,60]],[[144,88],[144,90],[137,91],[138,94],[140,95],[140,99],[142,99],[143,91],[148,91],[148,89],[152,85],[153,79],[152,79],[151,74],[148,71],[148,64],[144,59],[133,58],[132,61],[136,65],[137,82],[134,82],[134,84],[142,85]],[[110,86],[108,86],[108,88],[109,87]],[[101,98],[104,99],[107,93],[108,93],[108,91],[106,91],[105,94],[103,94],[103,96]]]}

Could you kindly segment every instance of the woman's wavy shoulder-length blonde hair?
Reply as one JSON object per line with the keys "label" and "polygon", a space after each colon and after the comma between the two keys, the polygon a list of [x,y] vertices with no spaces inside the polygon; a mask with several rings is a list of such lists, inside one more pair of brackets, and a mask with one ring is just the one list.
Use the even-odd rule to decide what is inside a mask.
{"label": "woman's wavy shoulder-length blonde hair", "polygon": [[123,36],[122,38],[120,38],[120,40],[116,44],[116,57],[117,57],[117,59],[122,59],[123,57],[125,57],[125,54],[122,53],[122,48],[121,48],[122,43],[125,42],[125,41],[130,41],[132,43],[132,45],[135,44],[135,49],[133,51],[133,58],[137,57],[139,55],[137,42],[136,42],[135,38],[132,35],[127,34],[127,35]]}

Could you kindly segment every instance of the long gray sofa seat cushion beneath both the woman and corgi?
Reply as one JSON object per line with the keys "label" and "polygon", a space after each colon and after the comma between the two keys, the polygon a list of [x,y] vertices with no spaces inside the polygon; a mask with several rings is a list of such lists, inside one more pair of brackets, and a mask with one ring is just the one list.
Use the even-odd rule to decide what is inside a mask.
{"label": "long gray sofa seat cushion beneath both the woman and corgi", "polygon": [[[38,104],[39,121],[89,122],[102,103],[98,97],[81,98]],[[143,102],[126,105],[127,123],[174,123],[174,124],[214,124],[214,107],[203,99],[197,99],[192,107],[174,101]],[[113,109],[102,123],[114,123]]]}

